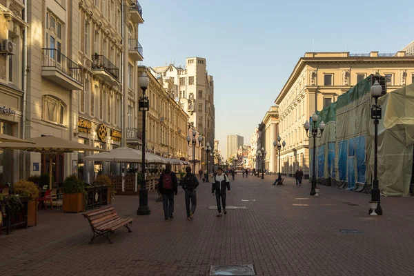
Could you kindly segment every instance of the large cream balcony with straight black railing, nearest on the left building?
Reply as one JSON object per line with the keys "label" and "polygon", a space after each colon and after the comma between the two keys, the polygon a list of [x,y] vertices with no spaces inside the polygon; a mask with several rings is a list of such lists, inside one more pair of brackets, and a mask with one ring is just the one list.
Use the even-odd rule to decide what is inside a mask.
{"label": "large cream balcony with straight black railing, nearest on the left building", "polygon": [[69,90],[82,90],[82,68],[57,49],[43,48],[41,75]]}

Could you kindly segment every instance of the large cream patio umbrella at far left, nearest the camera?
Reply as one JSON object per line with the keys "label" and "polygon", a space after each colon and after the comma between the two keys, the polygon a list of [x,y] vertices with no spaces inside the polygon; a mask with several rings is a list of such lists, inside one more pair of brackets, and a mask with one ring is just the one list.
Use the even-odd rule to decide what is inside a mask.
{"label": "large cream patio umbrella at far left, nearest the camera", "polygon": [[63,152],[74,151],[104,151],[100,148],[80,144],[75,141],[66,140],[52,135],[41,136],[35,138],[27,138],[28,143],[0,143],[0,148],[8,148],[10,150],[27,150],[32,152],[40,152],[49,156],[49,189],[52,188],[52,155]]}

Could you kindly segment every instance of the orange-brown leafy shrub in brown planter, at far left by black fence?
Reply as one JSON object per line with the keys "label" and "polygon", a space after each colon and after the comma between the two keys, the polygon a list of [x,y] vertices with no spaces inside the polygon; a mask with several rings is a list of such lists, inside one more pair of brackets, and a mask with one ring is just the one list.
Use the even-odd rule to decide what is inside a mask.
{"label": "orange-brown leafy shrub in brown planter, at far left by black fence", "polygon": [[32,182],[20,179],[13,185],[14,195],[21,195],[28,198],[28,226],[37,225],[37,198],[39,189]]}

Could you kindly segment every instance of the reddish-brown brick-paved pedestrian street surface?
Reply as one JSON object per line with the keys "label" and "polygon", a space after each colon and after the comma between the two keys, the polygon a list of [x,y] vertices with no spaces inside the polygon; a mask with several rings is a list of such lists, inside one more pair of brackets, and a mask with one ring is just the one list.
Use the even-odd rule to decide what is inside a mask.
{"label": "reddish-brown brick-paved pedestrian street surface", "polygon": [[413,198],[383,197],[384,215],[373,218],[370,195],[321,186],[311,197],[307,181],[273,179],[237,175],[228,205],[246,209],[219,218],[208,209],[210,184],[201,184],[193,221],[182,190],[167,221],[154,191],[146,217],[136,215],[138,197],[118,196],[113,206],[134,221],[132,233],[112,235],[114,244],[88,244],[81,214],[42,210],[38,226],[0,236],[0,275],[209,275],[219,264],[253,264],[257,275],[413,275]]}

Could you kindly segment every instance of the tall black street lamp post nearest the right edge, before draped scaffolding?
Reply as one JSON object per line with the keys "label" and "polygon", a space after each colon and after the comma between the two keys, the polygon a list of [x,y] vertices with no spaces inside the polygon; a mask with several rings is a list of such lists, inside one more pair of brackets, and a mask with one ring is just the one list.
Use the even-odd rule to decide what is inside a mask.
{"label": "tall black street lamp post nearest the right edge, before draped scaffolding", "polygon": [[[382,119],[382,109],[381,106],[378,104],[378,98],[381,96],[382,86],[375,80],[373,86],[371,86],[371,96],[375,99],[375,104],[371,107],[371,119],[374,119],[374,179],[373,179],[373,190],[371,191],[371,201],[377,202],[377,208],[375,209],[375,213],[377,215],[382,215],[382,208],[381,208],[381,195],[380,195],[380,187],[377,178],[378,172],[378,123],[379,120]],[[373,209],[369,209],[369,214],[373,213]]]}

